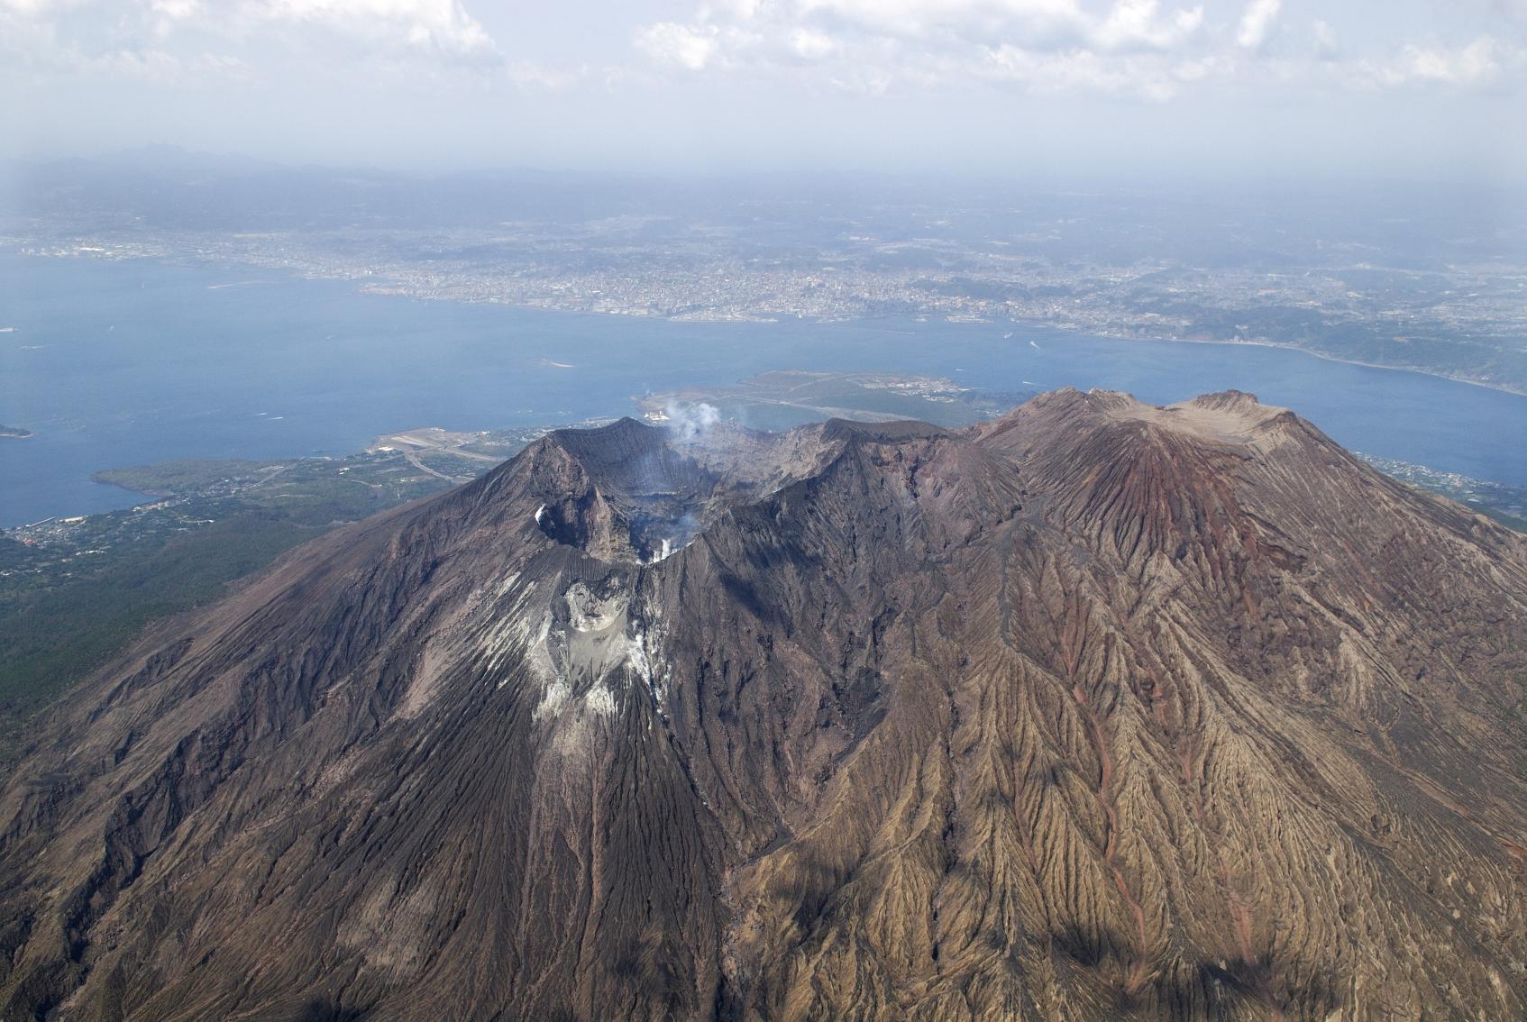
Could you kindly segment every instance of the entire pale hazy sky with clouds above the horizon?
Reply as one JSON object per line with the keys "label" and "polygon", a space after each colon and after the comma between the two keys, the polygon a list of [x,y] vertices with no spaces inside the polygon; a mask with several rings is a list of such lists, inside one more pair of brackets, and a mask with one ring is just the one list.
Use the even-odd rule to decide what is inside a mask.
{"label": "entire pale hazy sky with clouds above the horizon", "polygon": [[11,154],[1527,180],[1527,0],[0,0]]}

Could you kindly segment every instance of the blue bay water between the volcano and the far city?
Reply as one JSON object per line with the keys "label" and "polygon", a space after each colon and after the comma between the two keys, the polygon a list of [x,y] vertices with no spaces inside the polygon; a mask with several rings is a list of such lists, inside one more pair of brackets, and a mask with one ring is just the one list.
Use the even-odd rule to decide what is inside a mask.
{"label": "blue bay water between the volcano and the far city", "polygon": [[37,435],[0,440],[0,526],[139,503],[90,481],[105,467],[350,454],[411,426],[617,416],[649,391],[783,368],[1106,386],[1154,403],[1234,386],[1348,448],[1527,484],[1527,397],[1278,348],[910,319],[676,324],[365,295],[243,266],[14,252],[0,252],[5,327],[0,423]]}

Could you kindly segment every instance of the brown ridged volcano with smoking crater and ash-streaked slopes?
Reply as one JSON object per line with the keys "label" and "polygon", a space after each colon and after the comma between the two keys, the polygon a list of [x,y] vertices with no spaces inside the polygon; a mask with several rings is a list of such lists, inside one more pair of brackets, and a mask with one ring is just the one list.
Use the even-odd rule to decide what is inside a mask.
{"label": "brown ridged volcano with smoking crater and ash-streaked slopes", "polygon": [[64,1019],[1527,1011],[1527,544],[1243,394],[551,434],[0,793]]}

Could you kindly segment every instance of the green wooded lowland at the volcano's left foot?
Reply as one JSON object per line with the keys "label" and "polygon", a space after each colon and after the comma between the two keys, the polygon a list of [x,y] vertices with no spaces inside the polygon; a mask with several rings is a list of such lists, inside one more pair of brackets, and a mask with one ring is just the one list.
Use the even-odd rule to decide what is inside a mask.
{"label": "green wooded lowland at the volcano's left foot", "polygon": [[34,529],[29,542],[0,536],[0,764],[24,747],[29,720],[145,626],[336,524],[447,486],[374,454],[168,461],[98,478],[168,500]]}

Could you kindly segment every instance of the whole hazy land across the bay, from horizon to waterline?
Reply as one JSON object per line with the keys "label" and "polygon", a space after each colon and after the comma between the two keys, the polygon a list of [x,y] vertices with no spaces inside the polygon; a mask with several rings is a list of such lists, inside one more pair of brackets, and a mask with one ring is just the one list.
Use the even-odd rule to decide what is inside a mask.
{"label": "whole hazy land across the bay, from horizon to waterline", "polygon": [[[544,182],[304,177],[261,191],[238,176],[192,188],[95,174],[18,188],[0,244],[676,321],[921,316],[1263,344],[1527,393],[1527,238],[1489,203],[1432,209],[1467,197],[1400,196],[1383,211],[1405,215],[1380,217],[1348,209],[1350,196],[1280,206],[973,192],[930,205],[873,189],[605,199]],[[316,197],[289,209],[272,205],[278,192]]]}

